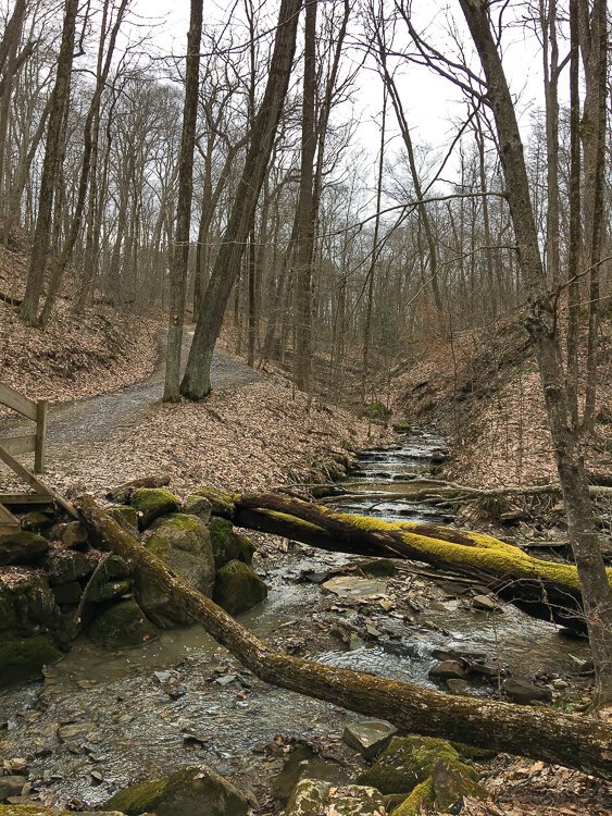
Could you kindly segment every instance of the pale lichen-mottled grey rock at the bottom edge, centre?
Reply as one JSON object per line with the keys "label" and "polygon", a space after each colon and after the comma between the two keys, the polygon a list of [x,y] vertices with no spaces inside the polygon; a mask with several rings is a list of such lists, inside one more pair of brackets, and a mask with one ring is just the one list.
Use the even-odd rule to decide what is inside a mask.
{"label": "pale lichen-mottled grey rock at the bottom edge, centre", "polygon": [[333,787],[316,779],[302,779],[285,816],[385,816],[385,800],[374,788],[359,784]]}

